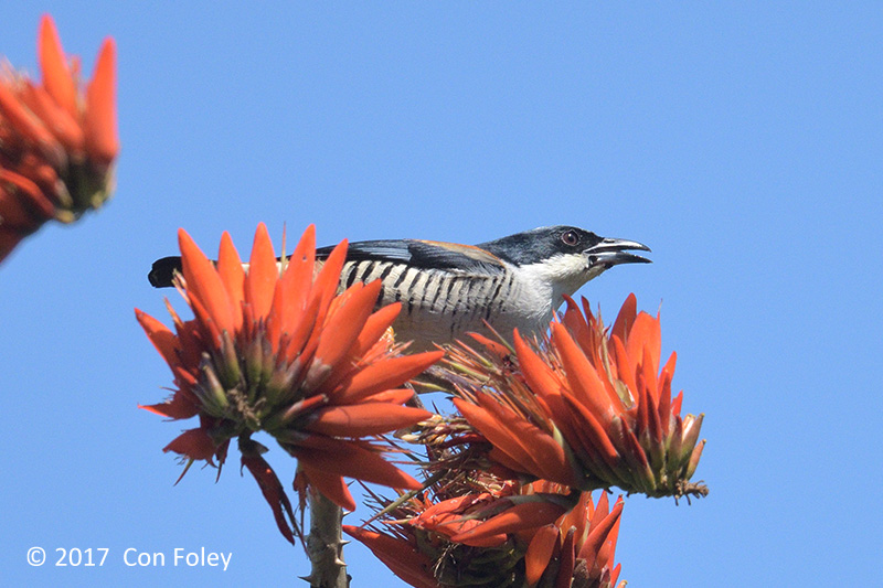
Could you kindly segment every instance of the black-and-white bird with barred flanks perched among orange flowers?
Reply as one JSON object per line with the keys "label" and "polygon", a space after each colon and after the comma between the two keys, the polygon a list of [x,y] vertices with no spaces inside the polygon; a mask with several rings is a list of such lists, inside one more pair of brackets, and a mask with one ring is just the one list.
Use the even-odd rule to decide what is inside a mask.
{"label": "black-and-white bird with barred flanks perched among orange flowers", "polygon": [[[332,249],[317,249],[317,259]],[[350,244],[340,285],[382,280],[377,306],[402,302],[393,324],[396,339],[424,350],[469,331],[487,333],[485,321],[507,338],[514,328],[522,334],[545,331],[563,295],[613,266],[650,263],[628,249],[650,250],[573,226],[534,228],[475,246],[365,240]],[[180,257],[164,257],[153,263],[148,279],[157,288],[172,286],[180,269]]]}

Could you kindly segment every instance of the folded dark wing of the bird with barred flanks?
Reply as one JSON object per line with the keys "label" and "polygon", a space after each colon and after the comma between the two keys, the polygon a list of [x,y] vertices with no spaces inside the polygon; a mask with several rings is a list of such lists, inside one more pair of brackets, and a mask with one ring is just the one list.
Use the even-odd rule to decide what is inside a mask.
{"label": "folded dark wing of the bird with barred flanks", "polygon": [[[333,247],[316,250],[325,259]],[[362,240],[351,243],[347,250],[349,261],[397,261],[423,269],[498,274],[506,270],[496,255],[472,245],[437,240]]]}

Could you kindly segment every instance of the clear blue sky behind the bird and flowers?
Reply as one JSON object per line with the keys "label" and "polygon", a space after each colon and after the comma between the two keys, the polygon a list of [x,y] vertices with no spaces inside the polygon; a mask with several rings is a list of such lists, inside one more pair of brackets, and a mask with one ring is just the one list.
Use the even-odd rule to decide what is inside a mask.
{"label": "clear blue sky behind the bird and flowers", "polygon": [[[574,224],[653,249],[582,295],[661,308],[684,410],[705,413],[706,500],[626,501],[630,586],[879,581],[883,402],[883,11],[874,2],[353,7],[45,2],[0,9],[35,71],[40,14],[91,68],[118,45],[115,199],[0,266],[0,579],[240,586],[308,573],[231,460],[180,473],[187,424],[138,403],[168,368],[150,263],[187,228],[247,252],[319,242],[478,243]],[[170,298],[178,309],[177,295]],[[283,478],[294,463],[270,452]],[[358,518],[359,513],[352,516]],[[32,546],[50,563],[32,568]],[[109,548],[55,567],[56,548]],[[175,548],[232,553],[226,571]],[[162,552],[162,568],[124,552]],[[398,586],[359,545],[353,586]]]}

